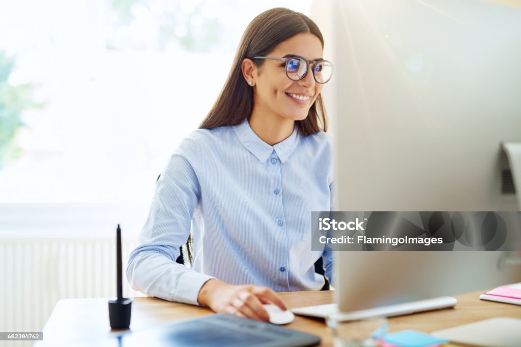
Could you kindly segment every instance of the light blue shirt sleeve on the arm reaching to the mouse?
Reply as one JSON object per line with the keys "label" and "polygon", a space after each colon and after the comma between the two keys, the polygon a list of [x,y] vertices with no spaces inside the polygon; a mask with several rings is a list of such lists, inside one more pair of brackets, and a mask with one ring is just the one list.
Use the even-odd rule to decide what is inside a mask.
{"label": "light blue shirt sleeve on the arm reaching to the mouse", "polygon": [[139,235],[139,246],[128,261],[127,279],[133,289],[197,305],[201,287],[215,278],[176,263],[200,200],[201,164],[200,144],[195,137],[188,137],[172,154],[159,177]]}

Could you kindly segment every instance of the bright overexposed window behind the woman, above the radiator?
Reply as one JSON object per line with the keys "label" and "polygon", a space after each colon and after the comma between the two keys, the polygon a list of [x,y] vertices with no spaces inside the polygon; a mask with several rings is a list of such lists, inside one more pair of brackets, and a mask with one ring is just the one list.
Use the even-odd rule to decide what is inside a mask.
{"label": "bright overexposed window behind the woman, above the radiator", "polygon": [[40,106],[11,124],[0,202],[150,203],[247,24],[278,6],[308,15],[311,1],[2,2],[0,52],[15,62],[5,83],[31,85]]}

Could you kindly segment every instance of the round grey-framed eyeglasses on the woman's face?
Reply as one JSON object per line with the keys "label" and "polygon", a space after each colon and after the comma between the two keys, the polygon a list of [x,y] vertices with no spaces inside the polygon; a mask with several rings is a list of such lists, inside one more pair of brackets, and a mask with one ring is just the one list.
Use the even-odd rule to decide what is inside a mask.
{"label": "round grey-framed eyeglasses on the woman's face", "polygon": [[253,57],[251,59],[271,59],[286,62],[286,75],[292,81],[300,81],[309,70],[309,64],[313,64],[313,77],[317,83],[326,83],[333,75],[333,64],[329,60],[306,60],[295,56],[290,58]]}

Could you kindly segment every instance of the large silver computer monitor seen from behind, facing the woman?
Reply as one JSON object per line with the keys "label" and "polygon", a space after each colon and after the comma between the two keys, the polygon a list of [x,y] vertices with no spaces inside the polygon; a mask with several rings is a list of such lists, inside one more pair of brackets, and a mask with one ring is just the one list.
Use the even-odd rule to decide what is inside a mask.
{"label": "large silver computer monitor seen from behind, facing the woman", "polygon": [[[521,8],[505,3],[515,4],[328,3],[332,22],[318,25],[333,36],[325,97],[333,100],[337,211],[519,211],[502,190],[502,143],[521,142]],[[498,271],[502,252],[335,253],[343,312],[521,275]]]}

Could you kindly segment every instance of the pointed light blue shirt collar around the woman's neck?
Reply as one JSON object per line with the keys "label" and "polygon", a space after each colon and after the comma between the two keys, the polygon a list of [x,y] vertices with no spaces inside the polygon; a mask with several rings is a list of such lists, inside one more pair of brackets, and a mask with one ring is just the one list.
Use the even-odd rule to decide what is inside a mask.
{"label": "pointed light blue shirt collar around the woman's neck", "polygon": [[233,131],[242,145],[263,163],[268,160],[274,150],[280,161],[286,162],[297,145],[298,131],[296,124],[291,135],[274,146],[268,145],[258,137],[257,134],[253,132],[247,119],[241,124],[233,126]]}

